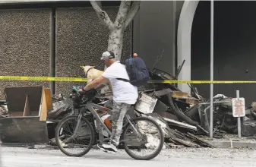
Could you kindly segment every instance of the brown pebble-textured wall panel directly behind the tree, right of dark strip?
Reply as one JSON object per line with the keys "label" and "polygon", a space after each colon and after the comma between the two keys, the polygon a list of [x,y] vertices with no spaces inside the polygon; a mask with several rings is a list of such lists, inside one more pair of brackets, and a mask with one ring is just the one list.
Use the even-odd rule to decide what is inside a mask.
{"label": "brown pebble-textured wall panel directly behind the tree, right of dark strip", "polygon": [[[118,8],[103,8],[112,20]],[[79,77],[81,65],[95,65],[103,70],[100,56],[106,51],[109,30],[93,8],[58,8],[56,10],[56,77]],[[131,28],[125,30],[122,57],[131,53]],[[55,84],[56,93],[71,93],[71,82]]]}

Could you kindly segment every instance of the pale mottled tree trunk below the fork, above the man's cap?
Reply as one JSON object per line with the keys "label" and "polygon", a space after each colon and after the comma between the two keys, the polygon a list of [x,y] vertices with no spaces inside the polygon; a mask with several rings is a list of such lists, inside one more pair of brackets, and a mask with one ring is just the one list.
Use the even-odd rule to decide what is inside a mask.
{"label": "pale mottled tree trunk below the fork, above the man's cap", "polygon": [[121,27],[109,33],[108,50],[114,52],[116,60],[121,59],[124,31],[125,27]]}

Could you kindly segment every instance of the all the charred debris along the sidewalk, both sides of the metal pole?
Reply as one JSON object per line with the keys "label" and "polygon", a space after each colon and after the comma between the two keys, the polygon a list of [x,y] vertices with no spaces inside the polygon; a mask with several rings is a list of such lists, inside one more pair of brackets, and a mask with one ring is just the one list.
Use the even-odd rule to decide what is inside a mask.
{"label": "all the charred debris along the sidewalk, both sides of the metal pole", "polygon": [[[150,71],[152,80],[176,80],[175,77],[153,68]],[[139,99],[134,106],[133,114],[154,118],[163,128],[166,145],[170,147],[213,147],[206,139],[209,135],[210,101],[199,95],[192,85],[191,95],[179,90],[172,83],[148,83],[139,88]],[[98,103],[112,107],[112,94],[105,93],[96,97]],[[220,138],[224,134],[237,134],[237,119],[232,117],[232,98],[224,95],[213,97],[213,137]],[[47,126],[50,143],[54,144],[54,129],[58,121],[67,115],[74,114],[72,101],[63,96],[52,97],[53,109],[48,112]],[[246,108],[246,117],[242,120],[242,136],[256,134],[256,104]],[[6,118],[8,111],[5,102],[0,106],[0,116]]]}

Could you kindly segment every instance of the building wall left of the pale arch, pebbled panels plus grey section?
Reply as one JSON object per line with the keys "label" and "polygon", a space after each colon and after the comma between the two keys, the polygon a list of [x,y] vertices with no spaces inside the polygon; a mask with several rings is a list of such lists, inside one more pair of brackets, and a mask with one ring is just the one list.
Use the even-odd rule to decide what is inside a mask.
{"label": "building wall left of the pale arch, pebbled panels plus grey section", "polygon": [[[103,2],[112,20],[119,3]],[[138,52],[152,68],[164,49],[159,68],[174,73],[176,5],[141,2],[140,11],[125,30],[122,55]],[[0,75],[80,77],[81,65],[103,69],[100,55],[107,48],[109,32],[90,2],[8,2],[1,5],[0,19]],[[43,85],[52,93],[68,95],[73,84],[79,83],[5,80],[0,97],[5,98],[4,87],[27,85]]]}

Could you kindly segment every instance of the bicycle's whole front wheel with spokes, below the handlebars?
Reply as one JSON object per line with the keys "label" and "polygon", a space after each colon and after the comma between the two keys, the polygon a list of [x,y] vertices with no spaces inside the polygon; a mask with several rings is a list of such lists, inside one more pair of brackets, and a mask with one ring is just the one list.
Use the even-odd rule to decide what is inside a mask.
{"label": "bicycle's whole front wheel with spokes, below the handlebars", "polygon": [[[82,117],[74,137],[74,129],[77,126],[78,115],[70,115],[63,118],[55,129],[55,140],[59,150],[67,156],[84,156],[90,151],[94,143],[94,131],[90,122]],[[78,153],[71,153],[80,150]]]}

